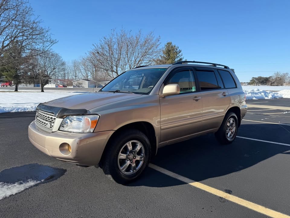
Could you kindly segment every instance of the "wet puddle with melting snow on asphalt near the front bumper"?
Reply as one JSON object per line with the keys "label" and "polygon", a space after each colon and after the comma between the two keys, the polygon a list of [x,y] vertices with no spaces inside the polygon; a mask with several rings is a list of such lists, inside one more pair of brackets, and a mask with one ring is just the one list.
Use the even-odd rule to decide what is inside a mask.
{"label": "wet puddle with melting snow on asphalt near the front bumper", "polygon": [[0,172],[0,200],[27,188],[56,180],[65,172],[64,169],[37,163],[2,170]]}

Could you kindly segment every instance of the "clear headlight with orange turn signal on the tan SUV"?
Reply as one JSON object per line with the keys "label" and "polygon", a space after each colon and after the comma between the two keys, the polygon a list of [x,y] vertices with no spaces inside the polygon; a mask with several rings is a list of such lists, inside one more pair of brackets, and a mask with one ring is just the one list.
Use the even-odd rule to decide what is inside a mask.
{"label": "clear headlight with orange turn signal on the tan SUV", "polygon": [[69,116],[63,119],[60,130],[76,133],[93,132],[99,117],[99,115]]}

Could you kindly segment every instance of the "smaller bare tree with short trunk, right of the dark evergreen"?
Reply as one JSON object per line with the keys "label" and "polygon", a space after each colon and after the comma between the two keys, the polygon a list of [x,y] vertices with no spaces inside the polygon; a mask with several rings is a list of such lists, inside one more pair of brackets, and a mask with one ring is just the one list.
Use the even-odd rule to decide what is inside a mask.
{"label": "smaller bare tree with short trunk, right of the dark evergreen", "polygon": [[59,54],[47,52],[35,58],[34,78],[39,81],[41,92],[43,87],[54,77],[56,80],[65,71],[66,62]]}

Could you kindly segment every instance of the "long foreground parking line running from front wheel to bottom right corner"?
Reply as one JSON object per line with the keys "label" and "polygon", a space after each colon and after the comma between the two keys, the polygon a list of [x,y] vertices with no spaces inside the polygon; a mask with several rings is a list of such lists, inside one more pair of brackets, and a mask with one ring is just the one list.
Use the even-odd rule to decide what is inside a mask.
{"label": "long foreground parking line running from front wheel to bottom right corner", "polygon": [[253,203],[253,202],[250,202],[250,201],[247,201],[247,200],[244,200],[242,198],[239,198],[239,197],[236,197],[234,195],[230,195],[230,194],[227,194],[221,190],[218,190],[216,188],[213,188],[213,187],[210,187],[208,185],[205,185],[205,184],[202,184],[200,182],[195,182],[191,179],[188,179],[186,177],[183,177],[179,174],[176,174],[176,173],[173,173],[169,170],[166,170],[162,167],[158,167],[152,163],[149,164],[149,167],[151,167],[152,169],[154,170],[157,170],[159,171],[160,173],[164,173],[170,177],[173,177],[175,179],[178,179],[182,182],[185,182],[185,183],[188,183],[189,185],[193,186],[193,187],[196,187],[196,188],[199,188],[201,190],[204,190],[208,193],[211,193],[211,194],[214,194],[218,197],[222,197],[222,198],[225,198],[231,202],[234,202],[234,203],[237,203],[241,206],[244,206],[244,207],[247,207],[251,210],[254,210],[258,213],[262,213],[266,216],[270,216],[270,217],[273,217],[273,218],[290,218],[290,216],[286,215],[286,214],[283,214],[283,213],[280,213],[280,212],[277,212],[275,210],[271,210],[269,208],[266,208],[264,206],[261,206],[259,204],[256,204],[256,203]]}

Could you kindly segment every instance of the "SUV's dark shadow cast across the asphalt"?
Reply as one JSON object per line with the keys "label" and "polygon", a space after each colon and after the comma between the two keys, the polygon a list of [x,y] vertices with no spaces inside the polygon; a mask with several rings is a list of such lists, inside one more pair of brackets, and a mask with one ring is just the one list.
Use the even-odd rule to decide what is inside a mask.
{"label": "SUV's dark shadow cast across the asphalt", "polygon": [[[267,126],[268,133],[276,124],[243,124],[241,128],[258,131]],[[239,133],[238,133],[239,135]],[[271,141],[275,140],[276,135]],[[289,154],[290,147],[237,138],[230,145],[220,145],[214,134],[196,137],[160,148],[151,163],[194,181],[220,177],[251,167],[276,154]],[[166,179],[164,179],[166,178]],[[151,168],[128,186],[164,187],[184,184]]]}

